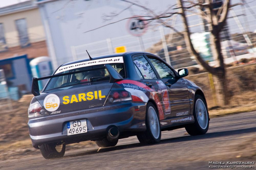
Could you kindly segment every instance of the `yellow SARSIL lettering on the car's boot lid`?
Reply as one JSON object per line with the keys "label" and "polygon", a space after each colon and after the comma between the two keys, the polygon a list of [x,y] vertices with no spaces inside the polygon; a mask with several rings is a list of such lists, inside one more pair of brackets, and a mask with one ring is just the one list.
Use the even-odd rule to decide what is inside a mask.
{"label": "yellow SARSIL lettering on the car's boot lid", "polygon": [[76,102],[83,102],[87,100],[92,99],[100,99],[105,98],[105,95],[102,95],[101,90],[94,91],[94,92],[87,92],[87,93],[79,93],[79,94],[73,94],[72,96],[64,96],[63,104],[71,104]]}

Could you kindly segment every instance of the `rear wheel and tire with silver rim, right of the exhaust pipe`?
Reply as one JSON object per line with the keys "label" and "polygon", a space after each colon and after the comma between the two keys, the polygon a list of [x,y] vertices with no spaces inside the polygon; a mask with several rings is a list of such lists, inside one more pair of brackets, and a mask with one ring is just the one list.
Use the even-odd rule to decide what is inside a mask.
{"label": "rear wheel and tire with silver rim, right of the exhaust pipe", "polygon": [[141,144],[155,144],[161,140],[161,126],[159,122],[158,112],[154,104],[147,104],[146,112],[147,130],[137,135]]}

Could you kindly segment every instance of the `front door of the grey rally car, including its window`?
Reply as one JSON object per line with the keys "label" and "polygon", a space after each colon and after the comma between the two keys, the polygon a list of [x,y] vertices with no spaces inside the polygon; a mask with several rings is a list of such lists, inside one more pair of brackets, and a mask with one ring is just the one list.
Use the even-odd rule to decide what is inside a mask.
{"label": "front door of the grey rally car, including its window", "polygon": [[184,79],[178,79],[175,71],[160,59],[153,56],[147,57],[168,89],[168,96],[171,103],[171,114],[169,118],[189,115],[190,100]]}

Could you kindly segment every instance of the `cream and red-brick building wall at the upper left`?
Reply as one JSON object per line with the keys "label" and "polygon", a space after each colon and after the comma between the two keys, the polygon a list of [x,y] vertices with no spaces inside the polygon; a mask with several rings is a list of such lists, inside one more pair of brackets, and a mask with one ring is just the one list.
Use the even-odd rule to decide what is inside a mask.
{"label": "cream and red-brick building wall at the upper left", "polygon": [[[25,2],[28,3],[28,2]],[[6,41],[5,48],[0,47],[0,59],[20,56],[27,54],[28,59],[40,56],[48,56],[47,44],[45,41],[45,31],[42,24],[38,7],[29,2],[26,7],[28,9],[19,10],[24,7],[24,2],[20,5],[12,5],[0,8],[0,24],[4,28],[4,36]],[[22,6],[23,5],[23,6]],[[8,8],[8,12],[5,11]],[[15,21],[18,19],[26,19],[26,27],[29,39],[29,45],[21,47],[19,33]]]}

